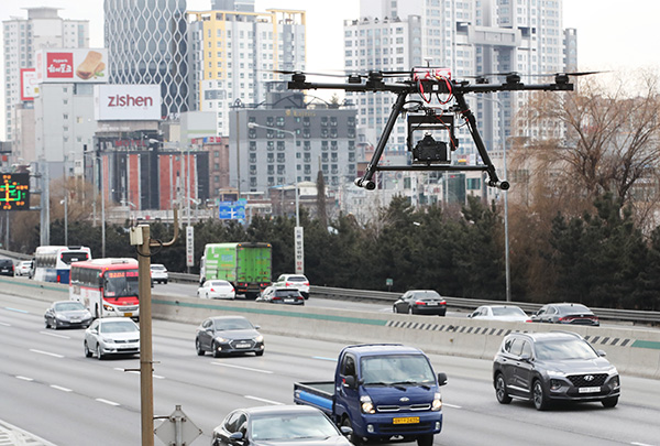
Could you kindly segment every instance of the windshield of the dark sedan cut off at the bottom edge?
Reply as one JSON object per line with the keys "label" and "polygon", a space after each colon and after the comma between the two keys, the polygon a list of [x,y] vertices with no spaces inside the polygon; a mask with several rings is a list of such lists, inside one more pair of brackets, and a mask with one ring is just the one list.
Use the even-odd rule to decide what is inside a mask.
{"label": "windshield of the dark sedan cut off at the bottom edge", "polygon": [[251,421],[252,439],[283,440],[328,438],[337,436],[337,428],[322,414],[255,416]]}

